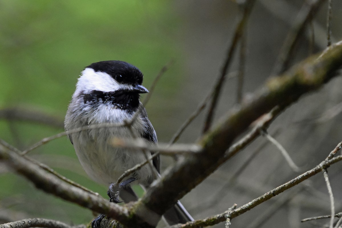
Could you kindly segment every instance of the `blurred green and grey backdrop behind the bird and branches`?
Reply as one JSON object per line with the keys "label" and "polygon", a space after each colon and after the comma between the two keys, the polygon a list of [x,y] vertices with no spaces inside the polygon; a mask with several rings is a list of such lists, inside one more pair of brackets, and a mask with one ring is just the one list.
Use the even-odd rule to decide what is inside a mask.
{"label": "blurred green and grey backdrop behind the bird and branches", "polygon": [[[143,85],[149,88],[161,68],[173,61],[145,106],[159,142],[169,142],[216,82],[241,16],[241,2],[0,0],[0,138],[24,150],[63,131],[80,71],[93,62],[129,62],[144,73]],[[285,37],[305,2],[312,1],[255,3],[246,30],[244,99],[272,75]],[[342,37],[342,2],[333,0],[332,6],[332,41],[336,42]],[[301,33],[291,64],[326,47],[326,18],[324,1]],[[229,68],[215,120],[237,104],[238,57]],[[302,172],[324,160],[341,141],[341,85],[341,78],[333,79],[300,99],[269,128]],[[206,111],[179,142],[196,142]],[[106,197],[107,186],[88,178],[67,137],[29,155]],[[162,169],[168,165],[172,160],[162,158]],[[329,168],[337,212],[342,210],[341,171],[340,163]],[[181,201],[200,219],[222,213],[234,203],[241,206],[299,174],[273,144],[260,137]],[[318,174],[235,218],[232,227],[312,227],[313,223],[300,220],[326,214],[330,214],[329,196],[323,175]],[[0,163],[0,222],[30,217],[80,224],[89,223],[94,215],[35,189]]]}

